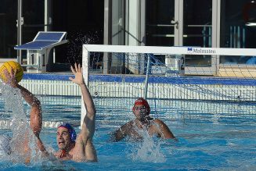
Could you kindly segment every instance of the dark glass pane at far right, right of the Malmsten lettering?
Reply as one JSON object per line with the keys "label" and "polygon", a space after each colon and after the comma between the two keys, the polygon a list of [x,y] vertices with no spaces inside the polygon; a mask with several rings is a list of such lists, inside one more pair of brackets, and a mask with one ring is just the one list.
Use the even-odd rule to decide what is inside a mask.
{"label": "dark glass pane at far right, right of the Malmsten lettering", "polygon": [[[221,48],[256,48],[256,4],[222,0]],[[256,64],[256,56],[221,56],[222,64]]]}

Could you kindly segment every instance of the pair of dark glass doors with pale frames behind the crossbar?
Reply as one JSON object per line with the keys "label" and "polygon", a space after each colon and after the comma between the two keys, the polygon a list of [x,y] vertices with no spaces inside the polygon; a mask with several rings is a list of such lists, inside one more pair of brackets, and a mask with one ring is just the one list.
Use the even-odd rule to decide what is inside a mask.
{"label": "pair of dark glass doors with pale frames behind the crossbar", "polygon": [[[212,0],[182,2],[146,1],[146,45],[212,47]],[[175,30],[182,31],[179,43]],[[186,55],[186,66],[211,66],[211,55]]]}

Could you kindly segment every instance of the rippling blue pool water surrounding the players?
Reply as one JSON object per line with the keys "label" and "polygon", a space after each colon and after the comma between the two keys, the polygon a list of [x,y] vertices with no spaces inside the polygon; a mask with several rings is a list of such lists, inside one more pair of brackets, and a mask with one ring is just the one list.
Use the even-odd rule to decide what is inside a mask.
{"label": "rippling blue pool water surrounding the players", "polygon": [[[71,120],[79,131],[81,98],[64,96],[39,98],[45,125],[41,131],[41,139],[48,148],[56,150],[56,125],[59,121]],[[113,99],[106,100],[113,101]],[[175,105],[184,103],[173,102]],[[255,170],[256,116],[255,113],[248,114],[247,110],[244,110],[254,109],[255,104],[243,106],[243,104],[216,102],[213,109],[221,105],[234,109],[230,113],[225,110],[223,113],[216,113],[216,111],[205,112],[198,109],[197,105],[207,105],[207,102],[186,102],[189,103],[191,105],[187,105],[183,112],[175,112],[171,109],[157,110],[157,117],[167,123],[178,141],[162,141],[147,137],[145,134],[145,140],[140,142],[111,142],[110,133],[132,119],[132,113],[96,102],[98,112],[94,143],[99,162],[41,160],[26,166],[23,163],[6,160],[6,156],[1,155],[0,170]],[[208,105],[212,105],[212,102]],[[238,105],[241,110],[237,109]],[[9,119],[2,101],[0,109],[0,119]],[[2,128],[0,134],[10,134],[10,130]]]}

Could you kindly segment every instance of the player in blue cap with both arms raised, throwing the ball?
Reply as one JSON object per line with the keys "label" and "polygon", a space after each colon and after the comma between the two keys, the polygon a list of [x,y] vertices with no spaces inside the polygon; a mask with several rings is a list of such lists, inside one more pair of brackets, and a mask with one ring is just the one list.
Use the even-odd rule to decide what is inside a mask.
{"label": "player in blue cap with both arms raised, throwing the ball", "polygon": [[[84,99],[85,109],[87,111],[84,122],[81,126],[81,133],[76,134],[75,130],[70,124],[65,123],[58,127],[56,141],[58,143],[59,150],[56,151],[53,155],[56,156],[57,159],[62,160],[74,160],[76,162],[87,162],[97,161],[96,149],[92,144],[92,137],[95,131],[95,116],[96,109],[95,105],[92,101],[91,94],[88,91],[88,88],[85,85],[82,69],[80,65],[75,64],[74,67],[71,66],[71,71],[74,73],[74,78],[70,77],[70,80],[74,82],[74,84],[78,84],[81,87],[82,98]],[[38,98],[31,94],[26,88],[22,87],[17,83],[15,78],[15,72],[11,69],[11,72],[8,72],[6,69],[4,70],[5,77],[7,78],[5,84],[9,84],[11,87],[18,88],[20,90],[21,95],[24,100],[31,106],[30,112],[30,127],[33,131],[35,137],[37,137],[38,149],[44,155],[49,155],[49,153],[45,150],[45,146],[42,143],[39,134],[41,132],[42,125],[42,115],[41,115],[41,103]],[[23,135],[26,137],[27,135]],[[31,151],[29,146],[30,138],[23,138],[24,141],[19,141],[19,147],[13,149],[11,146],[11,153],[16,153],[19,155],[23,155],[23,159],[25,162],[30,162],[30,156],[32,153],[36,153],[36,151]]]}

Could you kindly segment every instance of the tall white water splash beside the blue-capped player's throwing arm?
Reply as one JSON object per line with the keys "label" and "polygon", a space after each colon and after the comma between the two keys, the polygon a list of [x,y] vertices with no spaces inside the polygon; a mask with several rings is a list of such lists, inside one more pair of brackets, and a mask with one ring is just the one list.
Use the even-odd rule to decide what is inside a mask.
{"label": "tall white water splash beside the blue-capped player's throwing arm", "polygon": [[[4,155],[5,159],[15,162],[24,162],[24,159],[30,159],[31,162],[38,161],[41,158],[40,151],[37,148],[37,137],[34,136],[26,112],[23,111],[23,98],[20,90],[0,83],[2,99],[5,102],[5,112],[9,112],[10,130],[12,138],[9,141],[9,147],[12,149],[10,155]],[[1,118],[0,118],[1,119]],[[23,144],[28,144],[27,152],[24,152]]]}

